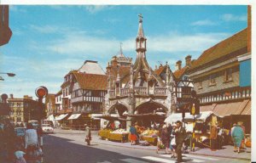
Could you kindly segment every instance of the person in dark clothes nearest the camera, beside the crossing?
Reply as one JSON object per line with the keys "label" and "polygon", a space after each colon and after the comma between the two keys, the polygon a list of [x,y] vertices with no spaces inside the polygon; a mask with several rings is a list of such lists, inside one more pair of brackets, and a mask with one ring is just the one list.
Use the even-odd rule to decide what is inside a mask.
{"label": "person in dark clothes nearest the camera, beside the crossing", "polygon": [[176,122],[176,129],[174,130],[173,135],[175,135],[177,162],[183,162],[182,147],[183,141],[186,138],[186,131],[183,128],[181,121]]}

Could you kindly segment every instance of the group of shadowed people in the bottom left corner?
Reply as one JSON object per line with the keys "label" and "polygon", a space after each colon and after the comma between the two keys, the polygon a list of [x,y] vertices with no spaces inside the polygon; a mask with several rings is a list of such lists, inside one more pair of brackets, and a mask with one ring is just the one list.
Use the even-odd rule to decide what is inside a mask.
{"label": "group of shadowed people in the bottom left corner", "polygon": [[39,163],[43,151],[38,144],[40,129],[26,124],[24,137],[15,132],[15,125],[9,119],[0,121],[0,162],[5,163]]}

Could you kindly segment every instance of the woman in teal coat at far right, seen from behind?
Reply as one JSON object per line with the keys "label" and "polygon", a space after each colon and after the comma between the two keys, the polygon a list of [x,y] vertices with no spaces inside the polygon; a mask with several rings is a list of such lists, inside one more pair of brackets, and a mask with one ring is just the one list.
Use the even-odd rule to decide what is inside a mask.
{"label": "woman in teal coat at far right, seen from behind", "polygon": [[232,132],[232,139],[234,142],[234,152],[237,152],[237,154],[239,154],[240,152],[241,141],[243,138],[244,138],[244,133],[242,131],[240,124],[238,124]]}

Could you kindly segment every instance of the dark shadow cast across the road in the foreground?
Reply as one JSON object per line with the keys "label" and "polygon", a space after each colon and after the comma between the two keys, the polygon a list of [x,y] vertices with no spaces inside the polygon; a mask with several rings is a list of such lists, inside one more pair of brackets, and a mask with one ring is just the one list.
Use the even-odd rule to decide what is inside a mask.
{"label": "dark shadow cast across the road in the foreground", "polygon": [[[108,149],[95,149],[84,144],[72,143],[71,139],[57,138],[47,135],[44,137],[44,162],[46,163],[127,163],[125,160],[137,162],[152,162]],[[132,149],[131,149],[132,150]],[[134,161],[136,162],[136,161]],[[153,163],[153,162],[152,162]]]}

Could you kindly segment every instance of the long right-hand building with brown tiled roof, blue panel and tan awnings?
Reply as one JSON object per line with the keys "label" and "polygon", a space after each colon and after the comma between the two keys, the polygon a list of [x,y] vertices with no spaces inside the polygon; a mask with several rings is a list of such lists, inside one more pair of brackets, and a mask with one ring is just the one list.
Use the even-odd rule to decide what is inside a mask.
{"label": "long right-hand building with brown tiled roof, blue panel and tan awnings", "polygon": [[[248,28],[208,48],[188,70],[201,101],[201,111],[233,122],[244,121],[250,131],[251,86]],[[245,70],[247,69],[247,70]],[[250,78],[250,77],[249,77]],[[247,120],[247,121],[246,121]]]}

